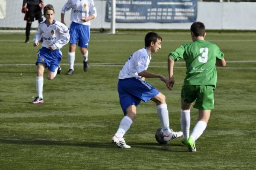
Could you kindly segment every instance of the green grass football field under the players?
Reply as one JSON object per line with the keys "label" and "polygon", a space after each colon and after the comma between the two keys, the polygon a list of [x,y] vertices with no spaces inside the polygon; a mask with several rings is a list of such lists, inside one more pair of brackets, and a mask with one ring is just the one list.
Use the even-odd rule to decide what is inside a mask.
{"label": "green grass football field under the players", "polygon": [[[126,133],[130,150],[111,143],[122,119],[116,90],[122,65],[144,46],[147,31],[92,34],[88,72],[76,52],[75,74],[68,69],[68,45],[62,48],[62,73],[53,81],[44,75],[44,104],[35,96],[36,52],[23,43],[24,34],[0,33],[0,169],[1,170],[249,170],[256,169],[256,32],[208,32],[206,40],[225,54],[218,67],[215,109],[207,129],[189,153],[180,140],[160,145],[160,127],[152,101],[137,108],[137,119]],[[158,32],[162,49],[152,55],[148,71],[167,76],[167,55],[189,32]],[[169,91],[159,79],[147,79],[164,95],[171,128],[180,130],[180,89],[185,63],[175,63],[175,86]],[[191,110],[191,126],[198,112]],[[191,127],[191,130],[192,130]]]}

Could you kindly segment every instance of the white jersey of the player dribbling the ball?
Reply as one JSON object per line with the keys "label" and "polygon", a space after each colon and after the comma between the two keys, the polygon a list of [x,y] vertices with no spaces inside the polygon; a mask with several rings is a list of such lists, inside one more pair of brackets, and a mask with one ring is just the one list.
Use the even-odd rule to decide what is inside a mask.
{"label": "white jersey of the player dribbling the ball", "polygon": [[119,72],[118,78],[141,78],[138,73],[148,69],[150,60],[151,55],[148,55],[147,49],[139,49],[128,58],[128,61],[126,61],[125,65]]}

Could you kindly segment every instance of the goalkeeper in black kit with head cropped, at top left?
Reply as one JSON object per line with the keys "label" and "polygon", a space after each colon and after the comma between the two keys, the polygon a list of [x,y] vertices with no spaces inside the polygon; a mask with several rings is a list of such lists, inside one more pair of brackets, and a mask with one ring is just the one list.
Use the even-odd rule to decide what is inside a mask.
{"label": "goalkeeper in black kit with head cropped, at top left", "polygon": [[25,14],[24,20],[27,21],[25,43],[29,43],[30,28],[32,22],[34,20],[38,20],[38,23],[43,21],[43,9],[44,3],[42,0],[23,0],[21,12]]}

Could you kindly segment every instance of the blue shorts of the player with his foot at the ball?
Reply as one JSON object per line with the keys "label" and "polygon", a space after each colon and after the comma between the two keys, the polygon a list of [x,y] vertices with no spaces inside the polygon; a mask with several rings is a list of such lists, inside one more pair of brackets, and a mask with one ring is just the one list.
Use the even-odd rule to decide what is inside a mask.
{"label": "blue shorts of the player with his foot at the ball", "polygon": [[159,91],[154,86],[140,78],[119,79],[117,90],[120,105],[125,115],[126,109],[129,106],[133,104],[137,106],[140,104],[140,101],[148,102],[151,98],[159,94]]}

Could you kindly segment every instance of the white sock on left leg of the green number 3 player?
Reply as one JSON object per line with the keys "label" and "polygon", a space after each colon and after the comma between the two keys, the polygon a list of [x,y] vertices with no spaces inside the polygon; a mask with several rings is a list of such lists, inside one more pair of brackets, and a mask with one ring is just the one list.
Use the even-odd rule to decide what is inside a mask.
{"label": "white sock on left leg of the green number 3 player", "polygon": [[180,110],[180,126],[183,132],[183,139],[189,137],[190,110]]}

